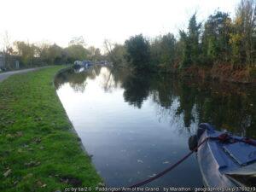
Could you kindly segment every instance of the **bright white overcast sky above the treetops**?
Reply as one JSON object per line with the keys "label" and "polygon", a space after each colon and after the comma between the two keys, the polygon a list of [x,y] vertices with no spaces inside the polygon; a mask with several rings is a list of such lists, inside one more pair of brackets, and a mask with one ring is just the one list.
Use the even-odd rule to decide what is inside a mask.
{"label": "bright white overcast sky above the treetops", "polygon": [[[216,9],[235,15],[240,0],[0,0],[0,39],[49,42],[66,47],[83,36],[87,46],[102,48],[104,39],[123,44],[143,33],[148,38],[186,29]],[[3,42],[1,39],[0,42]]]}

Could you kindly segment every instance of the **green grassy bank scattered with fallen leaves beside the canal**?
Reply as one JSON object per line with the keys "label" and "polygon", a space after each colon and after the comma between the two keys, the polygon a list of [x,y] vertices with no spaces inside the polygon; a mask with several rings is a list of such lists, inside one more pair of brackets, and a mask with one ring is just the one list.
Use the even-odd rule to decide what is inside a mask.
{"label": "green grassy bank scattered with fallen leaves beside the canal", "polygon": [[0,191],[64,191],[101,182],[52,84],[63,67],[0,83]]}

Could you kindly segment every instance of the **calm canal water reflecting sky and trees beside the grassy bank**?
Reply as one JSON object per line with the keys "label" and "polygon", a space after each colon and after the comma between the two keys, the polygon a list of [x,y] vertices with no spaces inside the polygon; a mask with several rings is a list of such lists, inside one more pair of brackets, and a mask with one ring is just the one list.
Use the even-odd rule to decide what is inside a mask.
{"label": "calm canal water reflecting sky and trees beside the grassy bank", "polygon": [[[61,73],[55,86],[109,187],[129,186],[172,165],[189,152],[189,136],[201,122],[256,137],[256,89],[252,85],[92,67]],[[202,185],[192,155],[146,186]]]}

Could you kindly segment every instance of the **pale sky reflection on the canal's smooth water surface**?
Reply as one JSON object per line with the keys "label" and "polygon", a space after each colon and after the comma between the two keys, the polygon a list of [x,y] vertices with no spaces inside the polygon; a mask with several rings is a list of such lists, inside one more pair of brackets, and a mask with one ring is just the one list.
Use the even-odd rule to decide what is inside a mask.
{"label": "pale sky reflection on the canal's smooth water surface", "polygon": [[[108,79],[104,70],[96,79],[86,80],[83,93],[75,92],[68,83],[57,93],[108,186],[126,186],[153,176],[188,153],[189,136],[177,129],[182,117],[170,123],[175,119],[172,108],[177,108],[177,100],[169,118],[160,118],[159,107],[150,96],[139,109],[124,102],[124,89],[119,86],[104,91]],[[112,78],[109,84],[113,84]],[[201,186],[195,157],[148,185]]]}

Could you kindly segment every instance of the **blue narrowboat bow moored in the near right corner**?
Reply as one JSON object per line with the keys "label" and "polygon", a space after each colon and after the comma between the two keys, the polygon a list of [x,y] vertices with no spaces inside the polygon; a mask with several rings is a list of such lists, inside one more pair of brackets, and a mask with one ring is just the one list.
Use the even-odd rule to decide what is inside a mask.
{"label": "blue narrowboat bow moored in the near right corner", "polygon": [[256,187],[255,140],[216,131],[206,123],[199,125],[194,138],[205,187]]}

